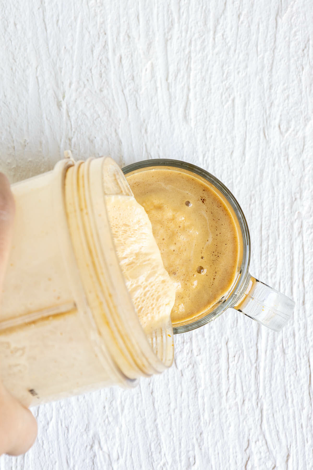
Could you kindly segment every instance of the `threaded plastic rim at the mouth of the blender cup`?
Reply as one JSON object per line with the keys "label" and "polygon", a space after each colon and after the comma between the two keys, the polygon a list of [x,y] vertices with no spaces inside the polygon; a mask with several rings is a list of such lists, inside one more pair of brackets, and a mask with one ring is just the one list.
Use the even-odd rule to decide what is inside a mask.
{"label": "threaded plastic rim at the mouth of the blender cup", "polygon": [[[173,347],[168,347],[169,338],[165,334],[165,331],[157,335],[158,341],[152,341],[152,345],[149,344],[126,289],[114,249],[114,241],[109,229],[109,221],[105,209],[105,162],[111,165],[114,164],[116,171],[121,172],[111,158],[102,157],[100,159],[88,159],[86,162],[79,162],[77,166],[81,168],[77,168],[77,176],[74,178],[76,194],[79,195],[81,204],[84,204],[86,209],[85,212],[81,211],[80,205],[76,203],[76,217],[81,221],[80,246],[83,249],[85,244],[84,256],[91,270],[89,274],[84,274],[85,276],[87,274],[87,277],[89,276],[89,280],[85,278],[83,283],[90,282],[92,279],[92,286],[97,292],[98,300],[91,306],[91,310],[95,315],[97,326],[100,329],[100,336],[103,335],[103,337],[107,338],[104,342],[104,347],[107,348],[107,345],[111,343],[113,349],[110,352],[114,352],[115,349],[115,354],[113,354],[112,359],[122,373],[130,380],[133,380],[138,376],[150,376],[154,373],[162,372],[171,365],[174,353]],[[124,179],[122,172],[121,176]],[[80,181],[78,181],[79,178]],[[125,183],[128,186],[126,181]],[[100,242],[99,225],[97,225],[97,223],[99,224],[100,218],[95,217],[95,200],[92,200],[92,190],[95,184],[98,184],[98,189],[100,188],[99,185],[101,185],[101,194],[103,194],[102,208],[105,209],[103,218],[106,224],[107,242],[110,244],[111,250],[109,246],[102,246]],[[130,194],[132,194],[131,191]],[[117,285],[115,285],[116,279],[112,279],[111,277],[113,271],[118,278]],[[107,289],[112,294],[111,299],[110,295],[107,295]],[[124,299],[123,305],[120,304],[120,298]],[[171,338],[171,340],[172,339],[173,338]],[[112,341],[114,342],[113,344]],[[166,354],[164,354],[164,352],[166,352]],[[122,362],[119,354],[123,356]],[[122,364],[123,362],[124,366]],[[127,375],[127,372],[130,373],[130,376]]]}

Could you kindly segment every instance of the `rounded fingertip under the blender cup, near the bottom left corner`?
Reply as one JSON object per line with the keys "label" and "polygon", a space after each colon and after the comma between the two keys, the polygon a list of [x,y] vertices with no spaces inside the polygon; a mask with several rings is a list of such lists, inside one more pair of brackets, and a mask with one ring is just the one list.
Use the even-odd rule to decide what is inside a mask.
{"label": "rounded fingertip under the blender cup, near the bottom left corner", "polygon": [[37,422],[0,384],[0,455],[20,455],[28,451],[37,436]]}

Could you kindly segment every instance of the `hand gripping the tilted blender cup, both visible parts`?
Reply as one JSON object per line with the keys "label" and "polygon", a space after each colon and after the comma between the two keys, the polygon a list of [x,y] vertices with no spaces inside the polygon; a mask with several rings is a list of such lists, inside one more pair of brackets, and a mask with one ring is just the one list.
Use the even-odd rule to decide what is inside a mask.
{"label": "hand gripping the tilted blender cup, both visible parts", "polygon": [[[8,178],[0,173],[0,287],[8,262],[14,212],[14,198]],[[31,411],[13,398],[0,382],[0,455],[25,453],[36,436],[37,422]]]}

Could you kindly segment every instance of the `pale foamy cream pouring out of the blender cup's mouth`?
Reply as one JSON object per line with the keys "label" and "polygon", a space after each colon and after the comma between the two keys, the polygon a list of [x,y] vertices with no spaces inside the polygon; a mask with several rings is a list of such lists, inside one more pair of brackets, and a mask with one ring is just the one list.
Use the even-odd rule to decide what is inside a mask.
{"label": "pale foamy cream pouring out of the blender cup's mouth", "polygon": [[145,333],[164,326],[175,302],[175,285],[163,266],[151,222],[132,196],[107,196],[107,214],[127,290]]}

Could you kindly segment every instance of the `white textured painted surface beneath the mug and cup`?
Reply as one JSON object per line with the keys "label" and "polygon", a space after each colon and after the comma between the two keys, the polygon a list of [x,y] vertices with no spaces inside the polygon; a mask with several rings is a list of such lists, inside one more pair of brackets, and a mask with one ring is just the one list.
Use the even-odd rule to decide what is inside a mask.
{"label": "white textured painted surface beneath the mug and cup", "polygon": [[242,205],[252,274],[296,301],[280,334],[228,311],[137,389],[33,409],[35,445],[0,470],[312,469],[312,0],[15,0],[0,17],[12,181],[64,149],[198,164]]}

